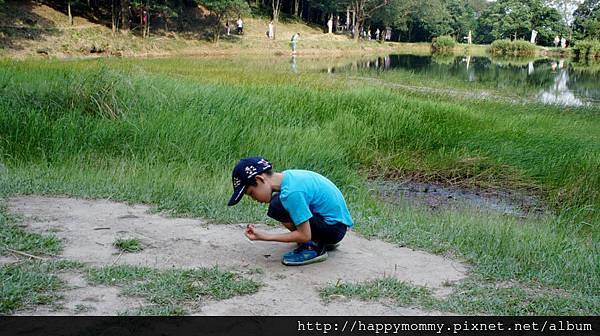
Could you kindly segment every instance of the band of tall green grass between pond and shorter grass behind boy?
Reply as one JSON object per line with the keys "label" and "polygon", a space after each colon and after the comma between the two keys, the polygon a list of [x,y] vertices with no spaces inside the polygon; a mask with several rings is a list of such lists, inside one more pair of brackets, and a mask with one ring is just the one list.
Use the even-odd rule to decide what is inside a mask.
{"label": "band of tall green grass between pond and shorter grass behind boy", "polygon": [[538,188],[555,209],[598,218],[586,210],[600,200],[593,115],[456,104],[376,85],[333,88],[338,83],[320,74],[296,79],[226,62],[2,66],[0,148],[9,165],[124,160],[223,177],[240,156],[261,153],[279,167],[327,171],[342,183],[364,167]]}

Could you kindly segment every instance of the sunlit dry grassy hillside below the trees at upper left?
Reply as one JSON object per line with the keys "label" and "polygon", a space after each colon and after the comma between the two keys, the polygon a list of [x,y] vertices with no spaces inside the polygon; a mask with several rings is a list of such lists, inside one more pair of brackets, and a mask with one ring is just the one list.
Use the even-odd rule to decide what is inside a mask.
{"label": "sunlit dry grassy hillside below the trees at upper left", "polygon": [[[300,53],[334,54],[393,51],[397,43],[364,41],[356,43],[346,35],[324,34],[320,27],[283,19],[276,26],[275,40],[266,38],[265,18],[244,18],[243,36],[233,32],[218,44],[210,40],[208,12],[202,8],[187,18],[194,26],[185,32],[166,32],[152,27],[142,38],[135,30],[113,34],[111,28],[94,18],[74,16],[69,24],[66,13],[34,1],[7,1],[0,5],[0,55],[9,57],[82,57],[82,56],[160,56],[170,54],[274,54],[287,55],[288,41],[294,32],[301,34]],[[96,22],[94,22],[96,21]],[[224,35],[224,34],[223,34]],[[417,45],[427,52],[427,44]]]}

